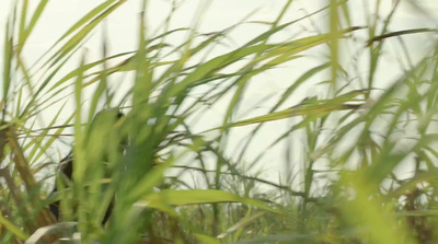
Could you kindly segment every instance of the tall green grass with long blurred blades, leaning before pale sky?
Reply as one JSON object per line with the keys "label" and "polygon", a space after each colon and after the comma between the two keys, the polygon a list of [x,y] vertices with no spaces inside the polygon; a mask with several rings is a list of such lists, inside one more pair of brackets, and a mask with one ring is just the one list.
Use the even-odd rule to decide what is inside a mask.
{"label": "tall green grass with long blurred blades, leaning before pale sky", "polygon": [[[171,28],[178,1],[151,32],[145,0],[136,50],[108,54],[105,19],[126,2],[89,10],[30,66],[27,40],[50,2],[12,1],[2,43],[0,243],[438,242],[436,30],[394,28],[403,4],[427,18],[420,5],[369,1],[355,25],[355,1],[297,18],[288,0],[274,21],[205,34],[196,23]],[[231,45],[249,23],[262,26],[256,37]],[[288,34],[303,23],[314,28]],[[97,60],[83,48],[93,33],[104,33]],[[426,36],[426,55],[406,36]],[[383,67],[391,48],[396,71]],[[293,70],[300,62],[315,65]],[[285,67],[300,74],[249,108],[254,81]],[[118,111],[125,116],[112,119]],[[70,149],[72,181],[57,181],[49,195]],[[272,164],[280,173],[264,177]],[[48,210],[57,200],[59,221]]]}

